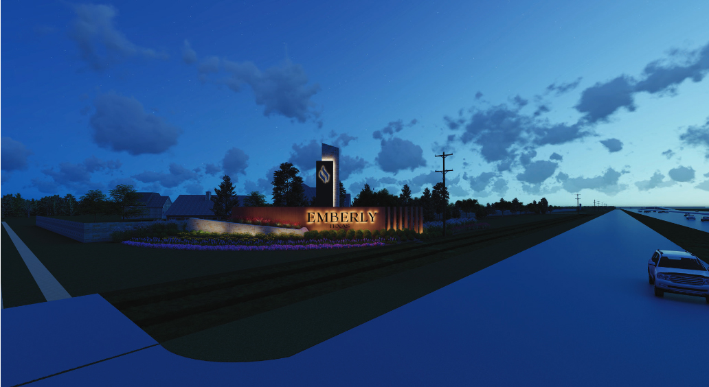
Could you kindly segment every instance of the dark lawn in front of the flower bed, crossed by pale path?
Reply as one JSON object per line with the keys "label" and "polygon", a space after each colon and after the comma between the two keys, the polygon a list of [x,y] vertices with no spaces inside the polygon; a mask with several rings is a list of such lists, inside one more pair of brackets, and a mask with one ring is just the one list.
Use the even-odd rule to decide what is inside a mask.
{"label": "dark lawn in front of the flower bed, crossed by pale path", "polygon": [[[190,251],[139,248],[121,243],[81,243],[35,226],[34,217],[10,218],[6,222],[74,297],[342,253],[342,250]],[[6,270],[6,250],[9,251],[8,256],[11,257],[14,250],[16,258],[21,258],[13,244],[4,241],[3,279],[17,276],[15,282],[22,284],[18,289],[31,288],[30,284],[34,280],[24,262],[9,259],[8,262],[18,263]],[[29,277],[16,274],[22,270],[26,270]],[[2,282],[4,305],[18,306],[33,304],[26,301],[44,301],[43,297],[39,300],[36,297],[28,299],[23,291],[9,290],[11,282]]]}

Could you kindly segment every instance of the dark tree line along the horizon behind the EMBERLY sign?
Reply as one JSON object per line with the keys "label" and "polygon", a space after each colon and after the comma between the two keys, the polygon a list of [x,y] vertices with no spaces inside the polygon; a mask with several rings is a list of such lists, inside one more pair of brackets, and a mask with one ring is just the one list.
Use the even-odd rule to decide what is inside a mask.
{"label": "dark tree line along the horizon behind the EMBERLY sign", "polygon": [[[222,177],[218,188],[214,188],[211,197],[213,201],[212,212],[220,218],[229,216],[233,207],[307,207],[315,204],[315,198],[308,200],[303,189],[303,178],[298,176],[300,171],[292,163],[281,163],[279,169],[274,172],[272,195],[273,202],[266,201],[266,195],[258,191],[252,191],[245,197],[243,203],[239,202],[235,195],[235,187],[228,175]],[[340,182],[340,207],[345,207],[347,191]],[[62,216],[93,214],[96,215],[117,214],[121,219],[135,218],[147,215],[145,203],[139,202],[140,194],[135,191],[132,185],[119,184],[113,190],[109,190],[106,196],[101,190],[89,190],[86,195],[82,195],[77,200],[74,195],[67,194],[65,197],[52,195],[43,197],[40,200],[28,200],[16,195],[4,195],[2,197],[2,216]],[[369,184],[365,184],[362,190],[352,200],[353,207],[423,207],[424,221],[432,221],[440,217],[444,212],[447,219],[459,218],[461,216],[475,216],[482,219],[498,210],[509,212],[530,212],[535,214],[545,214],[551,212],[554,206],[550,206],[545,197],[537,202],[524,204],[516,197],[511,201],[503,198],[499,202],[482,205],[476,199],[457,200],[450,203],[450,195],[447,187],[443,183],[436,183],[433,190],[426,187],[422,194],[417,197],[411,195],[411,187],[403,185],[401,192],[394,195],[386,188],[379,191],[372,190]]]}

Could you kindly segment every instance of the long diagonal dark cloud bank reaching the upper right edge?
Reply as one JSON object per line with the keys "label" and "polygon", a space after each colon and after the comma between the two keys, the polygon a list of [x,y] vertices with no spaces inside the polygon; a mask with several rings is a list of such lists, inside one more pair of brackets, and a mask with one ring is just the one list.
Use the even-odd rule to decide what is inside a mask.
{"label": "long diagonal dark cloud bank reaching the upper right edge", "polygon": [[659,60],[651,62],[643,70],[640,81],[622,75],[605,83],[596,83],[581,93],[576,110],[584,113],[588,122],[606,121],[620,108],[634,111],[635,93],[674,92],[686,79],[699,82],[709,71],[709,44],[684,54],[684,59],[684,64],[667,66],[661,65]]}

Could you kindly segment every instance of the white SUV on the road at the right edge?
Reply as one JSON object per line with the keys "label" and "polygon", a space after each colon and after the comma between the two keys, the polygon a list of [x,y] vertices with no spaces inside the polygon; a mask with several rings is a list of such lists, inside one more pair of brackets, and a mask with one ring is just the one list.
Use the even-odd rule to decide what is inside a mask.
{"label": "white SUV on the road at the right edge", "polygon": [[686,294],[709,303],[709,265],[692,253],[656,250],[647,261],[647,277],[655,296]]}

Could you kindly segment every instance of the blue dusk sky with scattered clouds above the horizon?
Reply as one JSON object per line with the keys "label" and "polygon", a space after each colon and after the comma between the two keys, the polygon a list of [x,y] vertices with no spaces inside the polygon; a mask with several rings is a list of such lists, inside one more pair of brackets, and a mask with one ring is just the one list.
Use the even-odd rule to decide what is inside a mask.
{"label": "blue dusk sky with scattered clouds above the horizon", "polygon": [[709,205],[709,6],[588,3],[3,1],[1,191]]}

